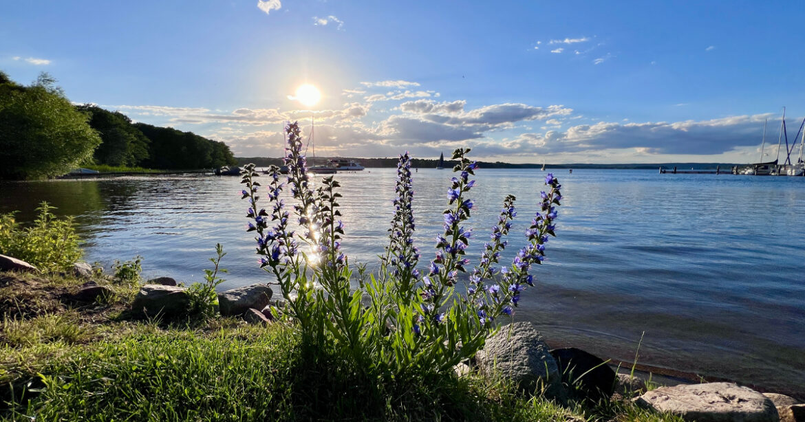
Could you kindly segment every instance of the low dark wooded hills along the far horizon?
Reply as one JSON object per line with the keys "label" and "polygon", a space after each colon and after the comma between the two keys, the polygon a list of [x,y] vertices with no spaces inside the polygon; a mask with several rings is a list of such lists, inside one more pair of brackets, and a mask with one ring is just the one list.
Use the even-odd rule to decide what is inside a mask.
{"label": "low dark wooded hills along the far horizon", "polygon": [[[324,163],[329,159],[340,158],[344,159],[345,157],[319,157],[316,158],[316,163]],[[267,166],[282,166],[283,159],[282,158],[266,158],[266,157],[237,157],[237,164],[243,166],[245,164],[254,163],[255,166],[258,167],[267,167]],[[346,158],[346,159],[354,159],[357,162],[360,162],[361,165],[365,167],[374,167],[374,168],[382,168],[382,167],[396,167],[397,166],[397,158]],[[411,165],[418,168],[436,168],[436,163],[439,160],[433,159],[423,159],[423,158],[414,158],[411,162]],[[455,166],[457,162],[452,161],[445,161],[444,167],[445,168],[452,168]],[[526,163],[526,164],[515,164],[510,162],[478,162],[478,166],[481,168],[487,169],[539,169],[542,167],[542,164],[535,164],[535,163]],[[654,163],[654,164],[586,164],[586,163],[570,163],[570,164],[546,164],[546,170],[551,169],[621,169],[621,170],[658,170],[660,167],[666,169],[673,169],[677,167],[679,170],[716,170],[716,166],[720,166],[721,169],[729,169],[732,166],[735,166],[733,163],[726,163],[726,162],[663,162],[663,163]],[[738,164],[738,166],[741,166]]]}

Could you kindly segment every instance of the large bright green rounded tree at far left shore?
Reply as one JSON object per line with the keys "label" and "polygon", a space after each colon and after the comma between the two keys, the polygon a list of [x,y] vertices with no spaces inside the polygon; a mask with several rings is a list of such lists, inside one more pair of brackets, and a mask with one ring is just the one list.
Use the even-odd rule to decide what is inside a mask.
{"label": "large bright green rounded tree at far left shore", "polygon": [[0,178],[52,178],[89,162],[101,137],[47,73],[30,86],[0,72]]}

